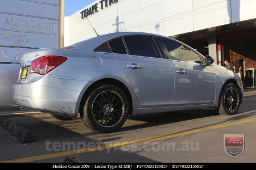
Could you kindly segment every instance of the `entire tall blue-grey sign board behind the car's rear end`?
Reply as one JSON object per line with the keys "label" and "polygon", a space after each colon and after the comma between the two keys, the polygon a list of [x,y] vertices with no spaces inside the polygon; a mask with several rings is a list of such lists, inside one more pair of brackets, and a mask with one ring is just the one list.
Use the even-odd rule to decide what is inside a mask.
{"label": "entire tall blue-grey sign board behind the car's rear end", "polygon": [[14,104],[20,56],[58,44],[59,0],[0,0],[0,105]]}

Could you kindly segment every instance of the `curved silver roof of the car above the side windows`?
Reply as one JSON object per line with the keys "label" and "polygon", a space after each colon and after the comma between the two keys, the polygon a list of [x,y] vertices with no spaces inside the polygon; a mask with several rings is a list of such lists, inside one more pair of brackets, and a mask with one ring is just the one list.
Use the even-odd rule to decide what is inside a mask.
{"label": "curved silver roof of the car above the side windows", "polygon": [[[106,41],[109,41],[121,36],[127,36],[127,35],[150,35],[150,36],[164,37],[161,35],[156,35],[153,33],[146,33],[146,32],[114,32],[114,33],[101,35],[98,37],[93,37],[91,39],[84,40],[81,42],[77,42],[76,44],[73,44],[73,46],[75,46],[74,49],[95,49],[97,48],[97,46],[103,44]],[[165,37],[165,38],[168,38],[168,37]]]}

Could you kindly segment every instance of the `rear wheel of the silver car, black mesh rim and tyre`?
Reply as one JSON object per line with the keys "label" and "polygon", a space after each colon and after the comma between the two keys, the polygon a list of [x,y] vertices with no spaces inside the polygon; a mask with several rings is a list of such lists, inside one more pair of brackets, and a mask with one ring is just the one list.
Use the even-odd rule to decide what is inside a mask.
{"label": "rear wheel of the silver car, black mesh rim and tyre", "polygon": [[93,131],[112,133],[125,123],[128,113],[129,103],[121,88],[101,84],[86,99],[81,118]]}

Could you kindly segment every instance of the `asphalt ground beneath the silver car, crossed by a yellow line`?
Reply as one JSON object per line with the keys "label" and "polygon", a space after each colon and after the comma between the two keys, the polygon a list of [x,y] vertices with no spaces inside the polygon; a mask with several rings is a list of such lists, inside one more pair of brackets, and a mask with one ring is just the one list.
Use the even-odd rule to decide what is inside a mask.
{"label": "asphalt ground beneath the silver car, crossed by a yellow line", "polygon": [[[0,107],[0,115],[8,113],[4,109]],[[32,114],[9,119],[38,141],[22,143],[0,127],[0,162],[62,163],[65,156],[84,163],[256,162],[254,90],[245,91],[239,113],[233,116],[220,116],[213,109],[131,116],[112,134],[94,133],[80,118],[59,121],[48,114]],[[245,135],[244,151],[237,158],[226,154],[224,134]]]}

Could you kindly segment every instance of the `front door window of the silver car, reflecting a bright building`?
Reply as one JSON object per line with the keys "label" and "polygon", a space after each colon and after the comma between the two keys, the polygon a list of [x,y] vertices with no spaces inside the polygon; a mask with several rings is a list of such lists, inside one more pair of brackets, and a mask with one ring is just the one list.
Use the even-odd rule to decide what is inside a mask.
{"label": "front door window of the silver car, reflecting a bright building", "polygon": [[167,48],[169,59],[193,63],[202,63],[199,54],[193,52],[187,46],[168,39],[161,40]]}

